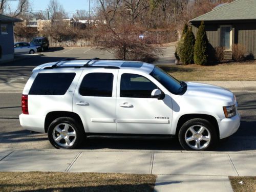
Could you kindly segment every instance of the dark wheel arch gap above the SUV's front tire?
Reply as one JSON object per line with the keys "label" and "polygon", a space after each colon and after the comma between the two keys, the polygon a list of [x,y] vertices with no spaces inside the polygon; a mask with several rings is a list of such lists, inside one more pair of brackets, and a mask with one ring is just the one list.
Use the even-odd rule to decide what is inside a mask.
{"label": "dark wheel arch gap above the SUV's front tire", "polygon": [[181,126],[188,120],[190,119],[195,119],[195,118],[201,118],[201,119],[206,119],[208,120],[210,123],[212,123],[212,125],[214,125],[216,133],[218,138],[220,138],[220,130],[219,130],[219,124],[217,119],[214,116],[211,115],[206,115],[206,114],[185,114],[182,115],[179,118],[179,121],[177,123],[177,127],[176,127],[176,132],[175,135],[177,136],[179,134],[180,128]]}

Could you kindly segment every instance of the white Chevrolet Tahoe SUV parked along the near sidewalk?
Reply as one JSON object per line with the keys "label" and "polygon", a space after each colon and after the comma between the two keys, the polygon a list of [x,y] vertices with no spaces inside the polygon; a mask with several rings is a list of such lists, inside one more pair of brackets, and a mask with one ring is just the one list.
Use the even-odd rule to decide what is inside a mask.
{"label": "white Chevrolet Tahoe SUV parked along the near sidewalk", "polygon": [[67,149],[86,138],[178,136],[185,150],[209,150],[240,125],[229,90],[178,81],[148,63],[98,58],[36,67],[22,110],[25,129]]}

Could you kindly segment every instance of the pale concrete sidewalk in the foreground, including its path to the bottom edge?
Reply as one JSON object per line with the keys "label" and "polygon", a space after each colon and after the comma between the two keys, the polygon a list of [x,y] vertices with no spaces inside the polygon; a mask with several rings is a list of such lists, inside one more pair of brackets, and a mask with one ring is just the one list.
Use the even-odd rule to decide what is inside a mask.
{"label": "pale concrete sidewalk in the foreground, including its path to the bottom edge", "polygon": [[256,176],[255,162],[236,152],[0,150],[1,172],[155,174],[156,191],[232,191],[228,176]]}

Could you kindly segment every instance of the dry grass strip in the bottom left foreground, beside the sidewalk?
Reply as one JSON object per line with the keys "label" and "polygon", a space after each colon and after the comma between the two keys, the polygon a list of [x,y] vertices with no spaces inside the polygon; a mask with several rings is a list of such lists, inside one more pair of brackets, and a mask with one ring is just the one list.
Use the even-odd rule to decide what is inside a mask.
{"label": "dry grass strip in the bottom left foreground, beside the sidewalk", "polygon": [[0,172],[0,191],[154,191],[155,175]]}

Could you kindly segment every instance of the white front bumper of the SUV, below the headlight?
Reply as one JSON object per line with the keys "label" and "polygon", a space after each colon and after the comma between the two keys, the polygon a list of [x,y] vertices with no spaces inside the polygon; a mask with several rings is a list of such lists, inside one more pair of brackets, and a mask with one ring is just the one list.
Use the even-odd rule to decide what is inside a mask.
{"label": "white front bumper of the SUV, below the headlight", "polygon": [[229,137],[236,133],[240,126],[241,116],[239,112],[231,118],[219,119],[220,139]]}

